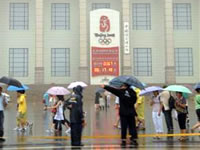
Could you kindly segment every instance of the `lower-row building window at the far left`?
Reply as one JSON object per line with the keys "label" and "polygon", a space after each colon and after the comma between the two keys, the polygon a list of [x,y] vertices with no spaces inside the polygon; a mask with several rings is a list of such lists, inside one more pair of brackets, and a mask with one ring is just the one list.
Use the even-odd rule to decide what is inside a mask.
{"label": "lower-row building window at the far left", "polygon": [[9,76],[28,76],[28,48],[9,49]]}

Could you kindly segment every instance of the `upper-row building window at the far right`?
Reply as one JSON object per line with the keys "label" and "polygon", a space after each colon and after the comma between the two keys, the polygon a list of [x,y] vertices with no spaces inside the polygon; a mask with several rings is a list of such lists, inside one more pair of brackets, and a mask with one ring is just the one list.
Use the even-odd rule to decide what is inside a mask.
{"label": "upper-row building window at the far right", "polygon": [[191,30],[191,4],[189,3],[174,3],[173,17],[175,30]]}

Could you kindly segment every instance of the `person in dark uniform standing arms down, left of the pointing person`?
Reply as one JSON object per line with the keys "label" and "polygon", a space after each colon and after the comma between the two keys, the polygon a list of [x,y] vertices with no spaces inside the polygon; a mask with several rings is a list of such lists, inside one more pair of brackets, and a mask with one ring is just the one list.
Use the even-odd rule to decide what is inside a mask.
{"label": "person in dark uniform standing arms down, left of the pointing person", "polygon": [[81,134],[84,123],[82,90],[83,88],[81,86],[75,87],[73,89],[74,93],[66,102],[67,107],[70,110],[72,146],[83,146],[81,144]]}

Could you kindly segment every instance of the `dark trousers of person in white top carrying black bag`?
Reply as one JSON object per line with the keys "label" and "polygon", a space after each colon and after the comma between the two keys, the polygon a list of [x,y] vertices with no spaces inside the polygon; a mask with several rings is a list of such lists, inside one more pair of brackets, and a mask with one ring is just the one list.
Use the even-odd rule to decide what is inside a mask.
{"label": "dark trousers of person in white top carrying black bag", "polygon": [[165,122],[167,125],[168,133],[173,133],[173,120],[172,120],[172,111],[171,110],[165,110],[163,111],[165,116]]}

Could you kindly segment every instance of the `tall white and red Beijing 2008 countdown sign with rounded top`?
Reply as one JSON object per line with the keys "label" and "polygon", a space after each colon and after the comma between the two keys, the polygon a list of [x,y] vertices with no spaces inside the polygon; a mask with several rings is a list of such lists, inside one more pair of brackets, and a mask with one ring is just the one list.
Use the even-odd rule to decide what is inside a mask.
{"label": "tall white and red Beijing 2008 countdown sign with rounded top", "polygon": [[119,24],[118,11],[98,9],[90,12],[91,84],[105,84],[120,74]]}

